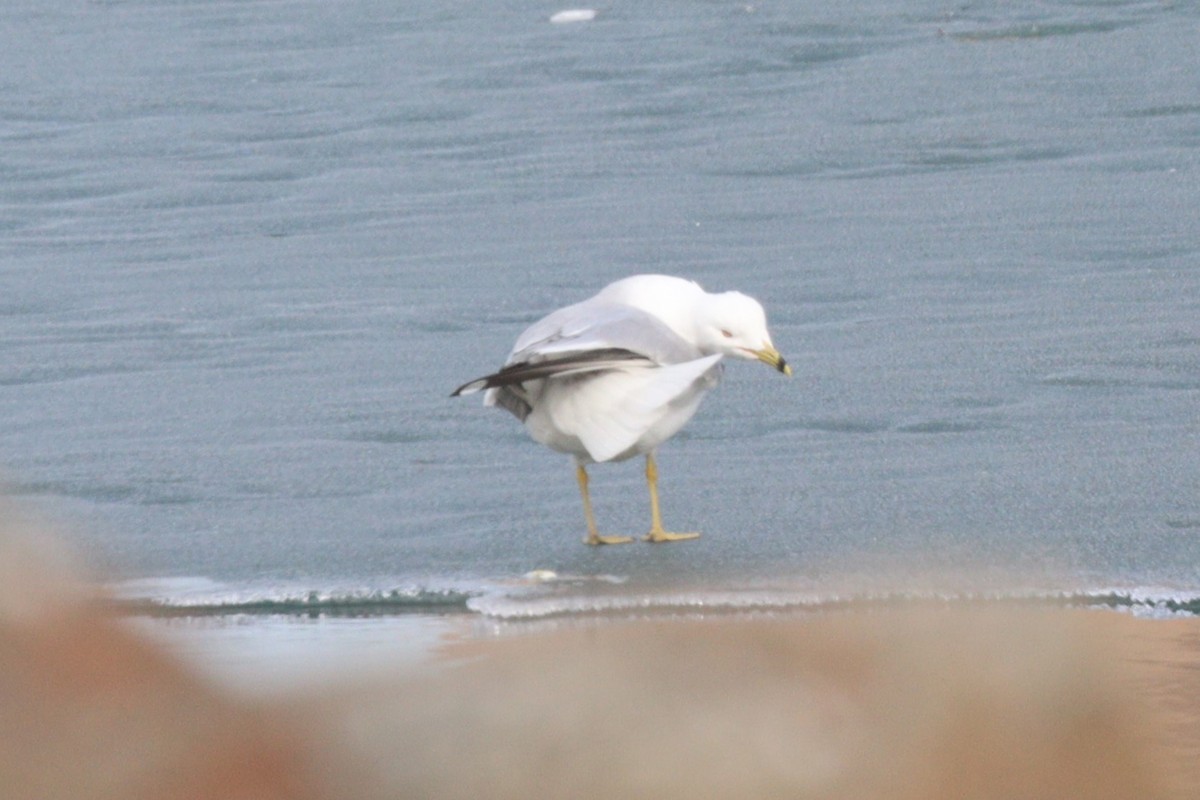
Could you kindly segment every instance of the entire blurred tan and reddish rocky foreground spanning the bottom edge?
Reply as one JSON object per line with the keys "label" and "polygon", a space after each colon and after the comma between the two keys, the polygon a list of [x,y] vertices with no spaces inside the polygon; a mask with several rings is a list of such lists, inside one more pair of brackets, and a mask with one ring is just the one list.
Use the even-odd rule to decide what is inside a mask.
{"label": "entire blurred tan and reddish rocky foreground spanning the bottom edge", "polygon": [[468,639],[251,704],[0,533],[4,798],[1193,798],[1200,624],[910,608]]}

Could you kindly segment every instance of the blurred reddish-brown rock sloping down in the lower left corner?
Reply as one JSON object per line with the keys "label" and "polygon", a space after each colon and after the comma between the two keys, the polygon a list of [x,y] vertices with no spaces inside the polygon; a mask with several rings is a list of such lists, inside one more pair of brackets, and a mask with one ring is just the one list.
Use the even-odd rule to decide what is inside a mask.
{"label": "blurred reddish-brown rock sloping down in the lower left corner", "polygon": [[100,610],[52,541],[4,525],[0,796],[334,796],[306,747]]}

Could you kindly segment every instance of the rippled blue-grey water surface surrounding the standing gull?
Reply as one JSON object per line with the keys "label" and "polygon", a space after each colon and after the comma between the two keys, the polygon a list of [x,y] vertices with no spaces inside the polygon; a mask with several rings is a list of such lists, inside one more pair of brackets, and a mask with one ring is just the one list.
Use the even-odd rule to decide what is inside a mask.
{"label": "rippled blue-grey water surface surrounding the standing gull", "polygon": [[[6,2],[11,492],[210,610],[1200,597],[1194,5],[563,7]],[[797,377],[662,449],[702,540],[593,549],[448,393],[644,271],[760,297]],[[593,489],[648,524],[637,462]]]}

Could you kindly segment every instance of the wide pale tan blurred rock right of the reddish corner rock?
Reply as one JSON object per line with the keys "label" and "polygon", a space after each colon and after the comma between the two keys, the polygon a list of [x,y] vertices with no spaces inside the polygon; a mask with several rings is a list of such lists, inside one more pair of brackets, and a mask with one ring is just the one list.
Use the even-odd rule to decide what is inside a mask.
{"label": "wide pale tan blurred rock right of the reddish corner rock", "polygon": [[343,708],[407,796],[1168,796],[1088,615],[572,630]]}

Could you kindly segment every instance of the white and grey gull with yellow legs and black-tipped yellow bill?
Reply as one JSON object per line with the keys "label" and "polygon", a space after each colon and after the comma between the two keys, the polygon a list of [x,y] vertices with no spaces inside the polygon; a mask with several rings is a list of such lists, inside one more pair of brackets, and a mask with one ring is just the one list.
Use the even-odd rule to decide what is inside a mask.
{"label": "white and grey gull with yellow legs and black-tipped yellow bill", "polygon": [[635,275],[534,323],[498,372],[463,384],[451,397],[482,391],[485,405],[510,411],[535,441],[572,457],[588,545],[632,537],[598,531],[587,465],[644,455],[650,493],[644,540],[673,542],[700,534],[662,528],[654,453],[720,383],[725,356],[792,374],[754,297],[708,293],[668,275]]}

